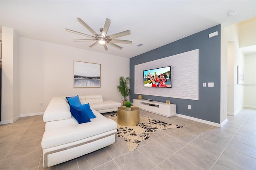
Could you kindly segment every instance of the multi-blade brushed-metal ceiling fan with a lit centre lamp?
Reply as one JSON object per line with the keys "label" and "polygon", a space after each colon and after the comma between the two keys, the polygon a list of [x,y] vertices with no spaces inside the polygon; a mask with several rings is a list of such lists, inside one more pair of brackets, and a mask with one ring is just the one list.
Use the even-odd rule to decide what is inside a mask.
{"label": "multi-blade brushed-metal ceiling fan with a lit centre lamp", "polygon": [[66,31],[68,32],[72,32],[72,33],[75,33],[75,34],[79,34],[79,35],[82,35],[82,36],[86,36],[86,37],[89,37],[91,39],[81,39],[81,40],[74,40],[75,42],[89,42],[89,41],[96,41],[94,42],[92,45],[90,45],[89,47],[94,47],[95,45],[97,45],[98,43],[102,44],[105,48],[106,51],[108,51],[108,47],[106,45],[106,43],[108,43],[109,45],[113,46],[113,47],[116,47],[118,49],[122,49],[123,47],[115,44],[115,43],[126,43],[126,44],[132,44],[132,41],[129,41],[129,40],[117,40],[115,38],[119,38],[119,37],[122,37],[122,36],[127,36],[127,35],[130,35],[131,32],[130,30],[126,30],[126,31],[123,31],[123,32],[119,32],[119,33],[116,33],[116,34],[112,34],[110,36],[107,36],[107,32],[108,32],[108,28],[110,26],[110,19],[106,18],[106,22],[104,24],[104,27],[103,28],[100,28],[100,32],[101,34],[97,34],[92,28],[90,28],[90,26],[88,26],[81,18],[77,18],[78,22],[80,22],[85,28],[87,28],[87,30],[89,30],[93,36],[90,36],[88,34],[84,34],[84,33],[81,33],[81,32],[77,32],[77,31],[74,31],[74,30],[70,30],[70,29],[67,29],[65,28]]}

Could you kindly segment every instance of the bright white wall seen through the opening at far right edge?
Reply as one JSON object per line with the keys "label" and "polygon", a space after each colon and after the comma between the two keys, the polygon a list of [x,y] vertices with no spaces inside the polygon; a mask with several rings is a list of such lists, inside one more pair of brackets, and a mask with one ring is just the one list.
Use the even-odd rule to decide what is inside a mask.
{"label": "bright white wall seen through the opening at far right edge", "polygon": [[244,57],[244,107],[256,108],[256,53]]}

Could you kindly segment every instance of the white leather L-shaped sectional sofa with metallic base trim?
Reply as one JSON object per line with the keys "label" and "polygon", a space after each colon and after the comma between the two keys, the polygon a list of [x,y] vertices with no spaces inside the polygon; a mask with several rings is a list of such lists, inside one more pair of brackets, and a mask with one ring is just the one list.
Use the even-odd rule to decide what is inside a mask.
{"label": "white leather L-shaped sectional sofa with metallic base trim", "polygon": [[90,119],[90,122],[80,124],[72,116],[70,105],[65,97],[52,98],[43,115],[43,120],[46,122],[41,142],[44,168],[116,142],[116,122],[100,113],[116,111],[121,103],[103,101],[100,96],[79,96],[82,104],[90,103],[91,110],[96,116]]}

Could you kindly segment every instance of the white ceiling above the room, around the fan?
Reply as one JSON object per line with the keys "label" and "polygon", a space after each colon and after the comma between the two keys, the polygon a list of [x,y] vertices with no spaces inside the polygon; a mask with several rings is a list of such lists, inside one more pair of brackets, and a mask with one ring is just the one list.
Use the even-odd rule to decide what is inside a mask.
{"label": "white ceiling above the room, around the fan", "polygon": [[[229,18],[229,12],[236,15]],[[212,26],[229,26],[256,16],[255,0],[0,0],[0,26],[14,28],[21,37],[107,53],[134,57],[174,42]],[[93,42],[66,32],[65,28],[92,35],[76,18],[81,18],[96,32],[111,20],[108,35],[130,30],[118,39],[132,40],[132,45],[118,44],[122,50],[108,45],[89,48]],[[1,30],[0,30],[1,32]],[[142,43],[141,47],[136,46]]]}

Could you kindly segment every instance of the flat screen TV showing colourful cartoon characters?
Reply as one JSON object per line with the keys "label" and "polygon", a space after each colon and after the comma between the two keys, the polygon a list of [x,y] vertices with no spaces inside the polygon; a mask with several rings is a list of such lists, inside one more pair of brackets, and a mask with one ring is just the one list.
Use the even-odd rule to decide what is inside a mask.
{"label": "flat screen TV showing colourful cartoon characters", "polygon": [[144,87],[171,88],[171,66],[143,71]]}

